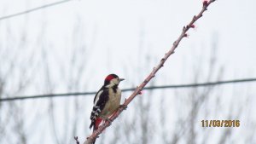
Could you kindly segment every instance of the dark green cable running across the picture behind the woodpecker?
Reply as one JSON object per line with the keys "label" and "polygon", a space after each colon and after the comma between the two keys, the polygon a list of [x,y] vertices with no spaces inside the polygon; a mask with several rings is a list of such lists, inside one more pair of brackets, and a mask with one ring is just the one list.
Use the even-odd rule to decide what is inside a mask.
{"label": "dark green cable running across the picture behind the woodpecker", "polygon": [[[256,82],[256,78],[244,78],[244,79],[234,79],[226,81],[217,82],[207,82],[201,84],[177,84],[177,85],[162,85],[162,86],[149,86],[145,87],[143,90],[153,90],[153,89],[180,89],[180,88],[193,88],[193,87],[206,87],[220,84],[237,84],[237,83],[248,83]],[[135,88],[122,89],[122,92],[133,91]],[[46,95],[30,95],[30,96],[15,96],[9,98],[1,98],[1,101],[16,101],[16,100],[26,100],[26,99],[37,99],[37,98],[48,98],[48,97],[60,97],[60,96],[78,96],[78,95],[96,95],[96,91],[93,92],[78,92],[78,93],[63,93],[63,94],[46,94]]]}

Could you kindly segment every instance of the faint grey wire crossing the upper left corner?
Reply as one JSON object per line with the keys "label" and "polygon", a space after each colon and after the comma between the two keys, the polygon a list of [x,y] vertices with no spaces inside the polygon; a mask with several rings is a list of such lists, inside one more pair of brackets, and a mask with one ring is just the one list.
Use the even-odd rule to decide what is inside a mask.
{"label": "faint grey wire crossing the upper left corner", "polygon": [[28,13],[37,11],[39,9],[45,9],[45,8],[48,8],[48,7],[51,7],[51,6],[54,6],[54,5],[58,5],[58,4],[61,4],[61,3],[67,3],[69,1],[72,1],[72,0],[63,0],[63,1],[55,2],[55,3],[45,4],[43,6],[40,6],[40,7],[34,8],[34,9],[28,9],[28,10],[25,10],[25,11],[22,11],[22,12],[19,12],[19,13],[16,13],[16,14],[9,14],[9,15],[0,17],[0,20],[10,19],[10,18],[15,17],[15,16],[19,16],[19,15],[22,15],[22,14],[28,14]]}

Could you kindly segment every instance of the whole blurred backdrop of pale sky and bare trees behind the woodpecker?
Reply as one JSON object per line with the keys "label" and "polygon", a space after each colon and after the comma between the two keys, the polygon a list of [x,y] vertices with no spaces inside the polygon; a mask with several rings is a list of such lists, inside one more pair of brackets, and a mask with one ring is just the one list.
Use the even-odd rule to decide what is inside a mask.
{"label": "whole blurred backdrop of pale sky and bare trees behind the woodpecker", "polygon": [[[255,78],[255,4],[212,3],[148,86]],[[201,7],[201,0],[1,0],[0,98],[96,91],[109,73],[125,78],[121,89],[136,87]],[[96,143],[255,144],[255,94],[253,82],[143,90]],[[0,143],[74,144],[73,136],[83,143],[93,98],[1,101]],[[202,127],[214,119],[241,123]]]}

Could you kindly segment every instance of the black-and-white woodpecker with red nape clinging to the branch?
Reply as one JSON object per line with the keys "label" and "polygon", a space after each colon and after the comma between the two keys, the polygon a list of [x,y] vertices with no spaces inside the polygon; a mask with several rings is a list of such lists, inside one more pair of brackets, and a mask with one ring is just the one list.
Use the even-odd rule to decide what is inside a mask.
{"label": "black-and-white woodpecker with red nape clinging to the branch", "polygon": [[[119,83],[125,80],[119,78],[116,74],[109,74],[104,81],[101,89],[96,93],[94,97],[94,106],[90,113],[90,129],[93,127],[93,131],[97,130],[102,120],[108,120],[113,112],[120,106],[121,90],[119,89]],[[124,107],[125,108],[125,107]]]}

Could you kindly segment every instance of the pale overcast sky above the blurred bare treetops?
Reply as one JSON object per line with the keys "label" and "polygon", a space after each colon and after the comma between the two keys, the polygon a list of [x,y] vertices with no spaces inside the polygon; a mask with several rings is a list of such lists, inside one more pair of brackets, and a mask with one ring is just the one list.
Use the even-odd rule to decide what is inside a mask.
{"label": "pale overcast sky above the blurred bare treetops", "polygon": [[[52,3],[52,1],[2,0],[0,3],[0,16],[4,16]],[[218,0],[217,3],[213,3],[203,19],[196,23],[197,29],[190,31],[190,37],[183,40],[176,51],[177,55],[173,56],[170,62],[168,60],[170,69],[177,69],[173,68],[171,63],[178,63],[181,61],[179,59],[188,57],[194,50],[207,51],[212,39],[216,37],[218,59],[230,73],[225,78],[255,77],[256,44],[253,43],[256,29],[255,4],[253,0]],[[137,60],[131,58],[137,58],[140,55],[137,54],[140,32],[144,32],[144,41],[147,42],[143,47],[154,52],[155,58],[159,59],[165,54],[166,49],[170,48],[181,32],[181,28],[199,9],[201,9],[200,0],[80,0],[2,20],[0,30],[1,37],[4,37],[3,32],[7,25],[13,31],[21,31],[24,26],[27,26],[31,37],[29,40],[34,43],[33,37],[40,32],[42,25],[46,24],[45,41],[53,44],[56,53],[61,55],[64,53],[63,49],[70,49],[65,48],[63,42],[71,43],[74,25],[77,20],[81,20],[84,24],[82,31],[86,34],[83,37],[84,41],[88,46],[94,47],[91,50],[93,55],[91,61],[107,66],[108,55],[115,55],[119,59],[115,62],[120,61],[120,65],[124,65],[124,61],[135,65]],[[63,55],[61,56],[61,60],[64,60]],[[114,61],[113,59],[109,60]],[[114,66],[119,64],[110,63],[108,64],[110,69],[123,74],[120,66],[118,68]],[[106,71],[110,70],[99,74],[105,75],[103,73],[108,73]]]}

